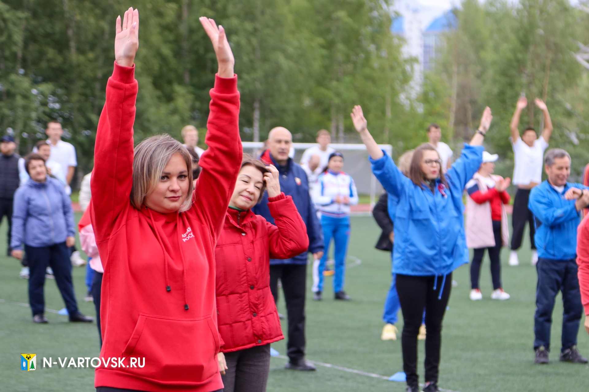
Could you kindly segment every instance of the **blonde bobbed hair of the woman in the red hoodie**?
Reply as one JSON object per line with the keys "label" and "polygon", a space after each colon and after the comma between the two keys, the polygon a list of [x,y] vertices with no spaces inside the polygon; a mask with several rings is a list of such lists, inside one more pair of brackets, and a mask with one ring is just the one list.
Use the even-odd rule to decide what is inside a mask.
{"label": "blonde bobbed hair of the woman in the red hoodie", "polygon": [[181,155],[188,171],[188,193],[180,212],[188,210],[192,205],[192,157],[179,141],[164,134],[149,137],[135,147],[131,205],[137,210],[144,204],[145,197],[157,187],[164,168],[174,154]]}

